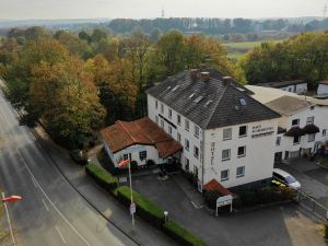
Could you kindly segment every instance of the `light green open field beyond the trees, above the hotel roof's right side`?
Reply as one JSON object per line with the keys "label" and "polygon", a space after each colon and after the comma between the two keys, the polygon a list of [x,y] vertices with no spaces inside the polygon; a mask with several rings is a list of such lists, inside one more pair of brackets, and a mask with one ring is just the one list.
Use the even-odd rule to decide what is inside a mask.
{"label": "light green open field beyond the trees, above the hotel roof's right side", "polygon": [[[256,46],[260,46],[261,43],[263,43],[265,40],[260,40],[260,42],[232,42],[232,43],[223,43],[222,45],[227,49],[227,57],[235,59],[235,60],[239,60],[244,57],[244,55],[253,49]],[[269,40],[273,44],[278,44],[281,43],[282,39],[280,40]]]}

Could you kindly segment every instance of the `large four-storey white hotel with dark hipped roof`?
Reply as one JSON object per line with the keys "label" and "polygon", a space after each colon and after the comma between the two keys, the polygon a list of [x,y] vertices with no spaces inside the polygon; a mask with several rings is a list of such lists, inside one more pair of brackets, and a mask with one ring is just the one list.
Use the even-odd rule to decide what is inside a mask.
{"label": "large four-storey white hotel with dark hipped roof", "polygon": [[272,177],[280,115],[212,69],[191,70],[147,91],[148,114],[184,145],[181,167],[199,188],[257,186]]}

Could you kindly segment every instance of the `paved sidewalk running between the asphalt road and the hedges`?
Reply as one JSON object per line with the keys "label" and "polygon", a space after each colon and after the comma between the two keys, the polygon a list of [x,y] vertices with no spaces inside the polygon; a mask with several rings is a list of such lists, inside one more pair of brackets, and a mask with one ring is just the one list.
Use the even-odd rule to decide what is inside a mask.
{"label": "paved sidewalk running between the asphalt road and the hedges", "polygon": [[37,141],[49,154],[49,157],[57,165],[58,169],[77,191],[80,192],[92,207],[99,211],[109,223],[132,237],[139,245],[176,245],[176,243],[168,238],[163,232],[154,229],[138,216],[136,218],[136,226],[133,229],[129,211],[86,176],[84,167],[73,163],[70,160],[68,152],[49,140],[42,128],[37,128],[36,131],[42,137],[37,139]]}

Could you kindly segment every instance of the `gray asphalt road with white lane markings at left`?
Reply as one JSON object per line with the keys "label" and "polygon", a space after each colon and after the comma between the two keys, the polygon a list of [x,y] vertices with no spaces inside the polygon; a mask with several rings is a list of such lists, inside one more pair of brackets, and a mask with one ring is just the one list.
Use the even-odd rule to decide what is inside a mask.
{"label": "gray asphalt road with white lane markings at left", "polygon": [[22,246],[136,245],[98,214],[61,176],[0,92],[0,189]]}

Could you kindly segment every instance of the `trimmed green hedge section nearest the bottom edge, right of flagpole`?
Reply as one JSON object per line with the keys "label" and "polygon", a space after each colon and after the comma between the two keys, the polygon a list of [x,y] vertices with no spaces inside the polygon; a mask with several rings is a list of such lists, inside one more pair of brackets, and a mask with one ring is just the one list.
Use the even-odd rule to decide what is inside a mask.
{"label": "trimmed green hedge section nearest the bottom edge, right of flagpole", "polygon": [[163,224],[163,231],[181,246],[209,246],[174,221],[165,222]]}

